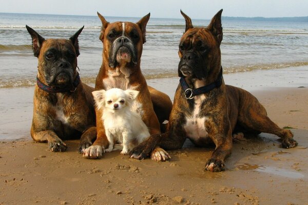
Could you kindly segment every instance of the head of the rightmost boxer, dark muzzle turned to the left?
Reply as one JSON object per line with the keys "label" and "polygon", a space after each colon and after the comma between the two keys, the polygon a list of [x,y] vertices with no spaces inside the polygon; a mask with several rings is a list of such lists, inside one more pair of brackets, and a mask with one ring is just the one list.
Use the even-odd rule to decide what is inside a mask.
{"label": "head of the rightmost boxer, dark muzzle turned to the left", "polygon": [[185,18],[186,28],[179,45],[179,76],[203,80],[214,72],[220,72],[222,9],[206,28],[194,28],[191,19],[184,12],[181,13]]}

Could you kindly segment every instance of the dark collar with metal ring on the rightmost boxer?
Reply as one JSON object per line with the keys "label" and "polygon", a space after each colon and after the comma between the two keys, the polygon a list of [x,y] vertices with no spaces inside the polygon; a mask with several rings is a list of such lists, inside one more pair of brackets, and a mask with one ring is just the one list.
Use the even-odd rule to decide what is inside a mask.
{"label": "dark collar with metal ring on the rightmost boxer", "polygon": [[186,80],[184,77],[180,78],[180,84],[184,90],[184,96],[186,99],[193,99],[196,95],[200,95],[203,93],[207,93],[211,90],[213,90],[214,88],[219,88],[222,85],[222,67],[219,73],[219,76],[217,78],[217,80],[215,80],[213,83],[207,85],[207,86],[203,86],[200,88],[196,88],[196,89],[191,89],[188,87]]}

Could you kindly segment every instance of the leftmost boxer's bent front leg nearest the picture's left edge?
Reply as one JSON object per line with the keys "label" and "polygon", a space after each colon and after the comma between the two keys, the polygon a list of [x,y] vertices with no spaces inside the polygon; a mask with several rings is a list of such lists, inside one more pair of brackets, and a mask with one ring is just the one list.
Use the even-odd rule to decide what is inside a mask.
{"label": "leftmost boxer's bent front leg nearest the picture's left edge", "polygon": [[48,148],[52,152],[64,152],[66,144],[52,130],[33,132],[32,138],[38,142],[48,142]]}

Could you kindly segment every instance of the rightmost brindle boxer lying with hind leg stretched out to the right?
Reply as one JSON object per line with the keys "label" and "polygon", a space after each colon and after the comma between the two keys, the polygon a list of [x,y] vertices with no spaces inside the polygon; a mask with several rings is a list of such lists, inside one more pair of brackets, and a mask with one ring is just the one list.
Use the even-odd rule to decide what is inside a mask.
{"label": "rightmost brindle boxer lying with hind leg stretched out to the right", "polygon": [[181,79],[167,132],[162,137],[151,135],[129,153],[131,157],[142,159],[156,145],[166,150],[179,149],[186,138],[202,147],[214,142],[216,149],[204,169],[219,172],[225,169],[224,159],[231,153],[232,134],[272,133],[282,139],[283,148],[295,147],[291,131],[280,129],[269,119],[252,94],[224,84],[220,53],[222,10],[206,28],[194,28],[191,19],[181,13],[186,21],[179,45]]}

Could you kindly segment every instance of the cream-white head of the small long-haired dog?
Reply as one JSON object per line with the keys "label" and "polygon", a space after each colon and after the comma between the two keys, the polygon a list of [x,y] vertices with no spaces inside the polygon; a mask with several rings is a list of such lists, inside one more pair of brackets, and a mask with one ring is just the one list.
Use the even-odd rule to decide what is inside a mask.
{"label": "cream-white head of the small long-haired dog", "polygon": [[95,104],[98,109],[107,109],[114,113],[130,109],[131,105],[139,94],[136,90],[122,90],[112,88],[109,90],[97,90],[92,92]]}

